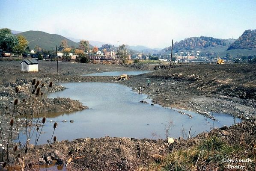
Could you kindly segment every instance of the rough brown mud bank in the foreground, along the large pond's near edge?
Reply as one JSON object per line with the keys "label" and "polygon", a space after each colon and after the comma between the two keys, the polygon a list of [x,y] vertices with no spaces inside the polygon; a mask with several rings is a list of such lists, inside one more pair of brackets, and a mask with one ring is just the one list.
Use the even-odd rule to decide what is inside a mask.
{"label": "rough brown mud bank in the foreground, along the large pond's near edge", "polygon": [[[149,165],[156,163],[155,167],[157,167],[157,163],[163,162],[169,154],[199,147],[205,139],[211,137],[218,137],[229,146],[240,144],[241,149],[247,149],[239,154],[234,151],[232,153],[234,156],[252,157],[256,139],[256,121],[214,129],[209,133],[201,133],[190,139],[174,139],[174,142],[169,143],[165,140],[110,137],[75,139],[71,142],[57,141],[51,145],[38,146],[32,162],[33,165],[43,165],[55,160],[57,161],[56,165],[62,165],[68,171],[138,171],[144,167],[145,170],[148,170]],[[33,149],[33,145],[31,145],[27,156],[31,155],[31,149]],[[214,169],[218,163],[221,161],[209,160],[200,167]],[[187,164],[189,165],[189,163]],[[251,167],[253,163],[247,165]]]}

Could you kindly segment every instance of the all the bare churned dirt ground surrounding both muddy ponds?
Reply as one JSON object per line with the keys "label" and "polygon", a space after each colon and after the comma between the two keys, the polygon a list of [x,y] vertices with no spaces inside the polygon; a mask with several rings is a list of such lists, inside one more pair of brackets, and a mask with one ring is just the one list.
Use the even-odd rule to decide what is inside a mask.
{"label": "all the bare churned dirt ground surrounding both muddy ponds", "polygon": [[[27,91],[30,90],[33,79],[40,80],[40,83],[45,83],[45,85],[53,81],[54,88],[51,91],[60,91],[63,90],[63,87],[58,85],[61,82],[116,81],[113,77],[81,76],[82,74],[134,70],[132,66],[60,62],[59,75],[57,75],[56,66],[56,62],[42,61],[39,62],[38,73],[25,73],[20,71],[20,62],[0,62],[0,110],[3,127],[8,128],[9,125],[10,115],[8,113],[12,113],[13,100],[17,98],[16,86],[20,87],[18,94],[20,102],[28,97]],[[256,65],[176,65],[171,70],[158,70],[131,76],[129,80],[118,82],[132,87],[134,91],[142,87],[142,93],[148,94],[153,103],[162,106],[192,110],[208,117],[208,112],[228,113],[244,119],[247,121],[245,123],[222,130],[215,129],[211,133],[202,133],[189,141],[175,140],[173,145],[168,145],[164,140],[109,137],[57,142],[52,147],[39,146],[33,164],[44,164],[47,162],[47,156],[50,156],[51,159],[60,163],[68,163],[67,168],[71,171],[128,171],[141,170],[144,166],[146,170],[150,162],[159,162],[159,158],[163,159],[173,149],[184,147],[188,149],[188,147],[199,144],[202,139],[213,135],[220,137],[229,145],[244,143],[241,145],[242,148],[252,148],[252,143],[256,141],[255,68]],[[149,69],[152,68],[149,67]],[[151,81],[150,88],[147,88],[147,79]],[[43,112],[86,108],[80,102],[66,98],[45,99],[45,102],[42,105]],[[7,112],[6,106],[8,106]],[[7,115],[3,117],[5,112]],[[22,113],[22,110],[20,112]],[[8,129],[3,131],[6,131],[5,135],[7,135]],[[242,156],[252,156],[251,150],[245,151]],[[70,158],[72,162],[68,162]]]}

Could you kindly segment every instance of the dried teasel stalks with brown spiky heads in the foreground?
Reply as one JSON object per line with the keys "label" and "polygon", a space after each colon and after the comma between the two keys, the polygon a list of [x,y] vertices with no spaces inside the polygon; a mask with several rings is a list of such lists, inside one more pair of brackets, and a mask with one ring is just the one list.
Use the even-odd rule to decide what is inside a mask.
{"label": "dried teasel stalks with brown spiky heads in the foreground", "polygon": [[[32,162],[33,155],[35,153],[35,149],[37,146],[37,143],[39,141],[40,135],[42,133],[43,127],[45,126],[46,118],[43,117],[42,121],[39,120],[39,114],[40,114],[40,106],[42,104],[42,98],[44,95],[43,89],[45,89],[45,83],[41,84],[41,87],[39,87],[40,81],[37,81],[34,79],[32,81],[32,87],[30,89],[29,94],[29,100],[26,103],[26,100],[23,99],[19,103],[18,100],[18,93],[20,92],[20,88],[15,87],[15,100],[14,100],[14,106],[12,109],[12,115],[9,122],[9,135],[8,139],[5,139],[3,134],[3,127],[0,121],[0,129],[1,129],[1,135],[0,138],[4,144],[3,149],[6,149],[4,152],[6,159],[3,163],[3,169],[7,168],[7,170],[12,171],[13,169],[16,170],[17,166],[20,171],[27,171],[32,168]],[[53,83],[51,82],[49,84],[49,88],[52,88]],[[45,91],[48,91],[46,89]],[[22,103],[22,107],[27,107],[27,112],[25,116],[26,121],[26,142],[25,144],[22,144],[20,141],[20,133],[19,133],[19,119],[18,119],[18,106]],[[7,110],[8,106],[5,108],[5,115],[7,116]],[[0,113],[1,115],[1,113]],[[36,119],[36,123],[33,123],[33,120]],[[42,123],[41,129],[39,129],[40,125],[39,123]],[[54,131],[57,127],[57,123],[54,123]],[[17,132],[16,132],[17,131]],[[53,135],[54,135],[53,131]],[[36,132],[36,133],[35,133]],[[13,142],[13,134],[17,133],[18,135],[18,143]],[[35,133],[35,136],[34,136]],[[51,139],[53,138],[53,135]],[[3,136],[3,137],[2,137]],[[29,147],[30,147],[30,140],[35,137],[35,143],[33,149],[31,149],[32,153],[28,153]],[[54,142],[56,142],[57,138],[54,136]],[[11,150],[13,149],[13,151]],[[12,156],[12,157],[11,157]],[[14,168],[15,167],[15,168]]]}

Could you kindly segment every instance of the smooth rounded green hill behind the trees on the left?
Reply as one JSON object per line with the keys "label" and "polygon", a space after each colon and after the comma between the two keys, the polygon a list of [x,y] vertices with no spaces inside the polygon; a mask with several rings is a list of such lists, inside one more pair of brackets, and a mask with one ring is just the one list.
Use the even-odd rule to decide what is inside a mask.
{"label": "smooth rounded green hill behind the trees on the left", "polygon": [[[62,35],[57,34],[49,34],[47,32],[42,31],[27,31],[27,32],[21,32],[18,33],[20,35],[24,35],[27,38],[28,46],[30,49],[33,49],[36,45],[39,45],[41,48],[46,50],[51,50],[52,48],[55,48],[60,46],[60,42],[62,40],[68,41],[69,47],[78,47],[79,43],[76,43],[74,41],[69,40],[68,38],[63,37]],[[90,48],[92,48],[92,45],[89,45]]]}

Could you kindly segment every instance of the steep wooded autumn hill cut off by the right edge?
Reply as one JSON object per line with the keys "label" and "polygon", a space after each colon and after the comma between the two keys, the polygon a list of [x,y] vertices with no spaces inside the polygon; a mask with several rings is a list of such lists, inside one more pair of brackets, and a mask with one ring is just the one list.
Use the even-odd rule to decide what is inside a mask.
{"label": "steep wooded autumn hill cut off by the right edge", "polygon": [[230,45],[228,50],[250,48],[256,48],[256,29],[245,30],[244,33]]}

